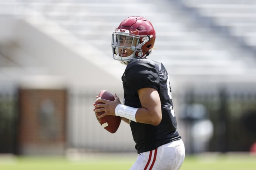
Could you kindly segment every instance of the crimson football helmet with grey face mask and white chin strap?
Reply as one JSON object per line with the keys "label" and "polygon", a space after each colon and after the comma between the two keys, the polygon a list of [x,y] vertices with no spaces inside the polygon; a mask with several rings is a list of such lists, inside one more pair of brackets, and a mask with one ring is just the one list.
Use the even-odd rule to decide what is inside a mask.
{"label": "crimson football helmet with grey face mask and white chin strap", "polygon": [[112,33],[113,58],[122,64],[145,58],[152,53],[155,39],[156,31],[149,20],[144,17],[128,17]]}

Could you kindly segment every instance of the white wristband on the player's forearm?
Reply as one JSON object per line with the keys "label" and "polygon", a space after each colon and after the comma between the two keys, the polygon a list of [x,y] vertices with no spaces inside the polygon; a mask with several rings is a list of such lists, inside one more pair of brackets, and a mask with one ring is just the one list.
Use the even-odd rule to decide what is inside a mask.
{"label": "white wristband on the player's forearm", "polygon": [[137,110],[138,110],[138,108],[119,104],[116,106],[115,114],[116,114],[116,116],[125,117],[126,119],[137,122],[135,119],[135,114],[136,114]]}

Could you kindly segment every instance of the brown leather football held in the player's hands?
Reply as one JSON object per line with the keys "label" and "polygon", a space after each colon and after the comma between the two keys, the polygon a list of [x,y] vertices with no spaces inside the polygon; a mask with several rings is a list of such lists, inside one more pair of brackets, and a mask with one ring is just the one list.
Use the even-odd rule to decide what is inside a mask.
{"label": "brown leather football held in the player's hands", "polygon": [[[97,99],[98,98],[112,100],[112,101],[114,100],[114,96],[107,90],[101,90],[99,95],[97,96]],[[100,103],[101,102],[95,102],[95,104],[100,104]],[[98,122],[104,129],[106,129],[110,133],[115,133],[119,128],[122,118],[120,116],[112,116],[112,115],[107,115],[105,117],[99,118],[98,116],[100,116],[103,113],[104,112],[95,112]]]}

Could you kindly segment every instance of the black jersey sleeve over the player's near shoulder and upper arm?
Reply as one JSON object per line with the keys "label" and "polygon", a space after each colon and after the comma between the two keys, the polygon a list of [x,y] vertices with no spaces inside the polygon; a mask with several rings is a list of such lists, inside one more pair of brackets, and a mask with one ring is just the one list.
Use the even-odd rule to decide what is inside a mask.
{"label": "black jersey sleeve over the player's near shoulder and upper arm", "polygon": [[140,88],[151,87],[159,90],[159,76],[154,65],[137,61],[126,69],[126,83],[137,91]]}

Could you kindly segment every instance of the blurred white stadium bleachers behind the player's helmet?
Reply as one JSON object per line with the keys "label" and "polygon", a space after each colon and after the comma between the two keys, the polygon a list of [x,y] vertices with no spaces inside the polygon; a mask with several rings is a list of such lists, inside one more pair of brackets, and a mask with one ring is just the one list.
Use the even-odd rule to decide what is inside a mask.
{"label": "blurred white stadium bleachers behind the player's helmet", "polygon": [[[217,79],[220,81],[223,81],[221,78],[223,75],[225,80],[227,79],[226,75],[230,75],[230,79],[232,79],[232,75],[242,75],[241,79],[247,81],[248,78],[244,78],[244,74],[255,72],[254,65],[251,66],[252,63],[255,63],[255,54],[237,46],[233,39],[222,37],[221,34],[218,34],[218,30],[214,32],[204,24],[200,25],[195,22],[193,16],[190,16],[190,11],[180,8],[179,3],[181,2],[187,7],[196,8],[202,16],[218,20],[216,24],[221,26],[225,24],[230,32],[234,33],[234,36],[244,38],[245,42],[253,48],[256,37],[253,36],[255,3],[250,0],[243,1],[243,4],[239,1],[223,3],[200,0],[180,2],[142,0],[129,3],[13,0],[2,1],[1,9],[4,10],[1,12],[2,14],[20,14],[23,17],[33,16],[35,18],[36,15],[43,15],[82,41],[90,43],[105,53],[107,57],[112,56],[109,39],[114,27],[130,15],[142,15],[152,21],[157,31],[155,44],[157,49],[150,57],[166,63],[171,75],[177,75],[177,78],[184,76],[186,81],[190,80],[186,75],[195,75],[195,79],[197,76],[203,76],[206,81],[207,79],[212,80],[212,77],[206,77],[211,75],[217,75],[219,77]],[[142,7],[147,10],[141,10]],[[248,8],[251,11],[247,11]],[[242,20],[240,20],[241,18]],[[234,21],[232,22],[232,20]],[[201,20],[201,22],[205,21]],[[42,25],[42,23],[40,24]],[[47,24],[44,27],[47,27]],[[56,36],[58,36],[57,32]],[[241,56],[243,57],[241,58]],[[218,80],[214,78],[214,81]]]}

